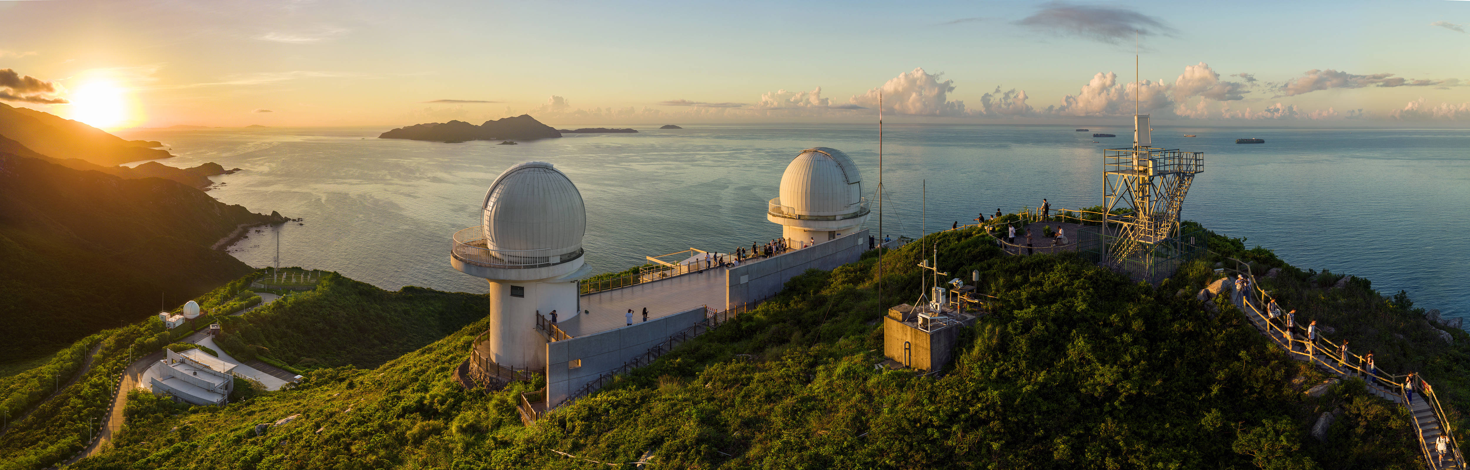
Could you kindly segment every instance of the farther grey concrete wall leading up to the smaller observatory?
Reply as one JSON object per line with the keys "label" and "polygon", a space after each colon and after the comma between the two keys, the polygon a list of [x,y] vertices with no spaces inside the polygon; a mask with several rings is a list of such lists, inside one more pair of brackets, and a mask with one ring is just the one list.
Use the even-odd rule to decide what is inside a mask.
{"label": "farther grey concrete wall leading up to the smaller observatory", "polygon": [[833,241],[801,248],[772,258],[744,263],[726,275],[726,306],[757,301],[781,292],[786,281],[807,269],[833,270],[838,266],[857,261],[867,251],[867,229],[838,236]]}

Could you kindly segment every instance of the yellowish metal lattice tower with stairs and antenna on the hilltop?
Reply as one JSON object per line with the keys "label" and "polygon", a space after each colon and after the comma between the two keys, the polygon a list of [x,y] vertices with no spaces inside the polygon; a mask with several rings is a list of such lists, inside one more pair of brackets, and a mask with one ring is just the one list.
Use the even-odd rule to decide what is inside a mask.
{"label": "yellowish metal lattice tower with stairs and antenna on the hilltop", "polygon": [[[1136,73],[1138,56],[1133,63]],[[1194,239],[1198,234],[1180,232],[1179,213],[1204,153],[1154,147],[1148,115],[1139,113],[1141,91],[1135,75],[1133,147],[1102,150],[1102,226],[1088,236],[1101,244],[1088,251],[1100,263],[1158,282],[1202,248]]]}

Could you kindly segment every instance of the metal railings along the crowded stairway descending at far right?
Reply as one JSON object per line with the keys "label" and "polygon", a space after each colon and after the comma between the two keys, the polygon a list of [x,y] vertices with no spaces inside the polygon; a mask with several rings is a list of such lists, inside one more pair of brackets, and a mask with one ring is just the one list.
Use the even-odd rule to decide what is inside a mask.
{"label": "metal railings along the crowded stairway descending at far right", "polygon": [[[1410,419],[1414,420],[1414,430],[1417,435],[1419,446],[1420,451],[1424,454],[1424,458],[1427,460],[1430,469],[1441,469],[1441,466],[1433,463],[1435,452],[1430,451],[1430,444],[1424,441],[1424,429],[1423,426],[1419,424],[1419,417],[1414,416],[1414,404],[1413,401],[1408,400],[1408,395],[1405,394],[1404,389],[1404,383],[1399,382],[1399,380],[1405,382],[1417,380],[1419,386],[1416,386],[1414,389],[1417,389],[1420,392],[1420,397],[1424,398],[1424,402],[1430,405],[1430,410],[1435,414],[1435,420],[1439,422],[1441,435],[1449,439],[1448,448],[1454,452],[1452,457],[1454,463],[1446,469],[1466,469],[1464,455],[1460,451],[1460,444],[1457,442],[1454,432],[1449,429],[1449,416],[1439,404],[1439,397],[1435,395],[1433,386],[1430,386],[1429,382],[1423,380],[1419,375],[1414,375],[1414,377],[1408,377],[1408,375],[1379,375],[1376,367],[1372,370],[1366,370],[1363,366],[1367,364],[1367,360],[1361,355],[1352,354],[1351,351],[1342,351],[1341,342],[1332,342],[1322,333],[1316,333],[1317,338],[1311,339],[1307,336],[1305,328],[1302,328],[1299,323],[1295,322],[1291,328],[1282,328],[1280,325],[1277,325],[1279,322],[1272,322],[1269,313],[1261,311],[1261,308],[1266,307],[1257,307],[1255,303],[1260,303],[1261,306],[1270,306],[1273,298],[1266,292],[1266,289],[1260,286],[1260,282],[1257,282],[1255,275],[1250,272],[1248,267],[1250,263],[1232,257],[1225,257],[1225,258],[1236,263],[1236,266],[1230,269],[1232,272],[1250,278],[1252,286],[1250,292],[1251,295],[1244,295],[1242,292],[1241,300],[1236,306],[1241,306],[1242,311],[1250,310],[1247,311],[1247,314],[1254,316],[1255,319],[1260,320],[1258,323],[1254,320],[1251,323],[1257,325],[1258,328],[1263,328],[1267,336],[1272,338],[1277,345],[1286,348],[1288,354],[1291,354],[1292,357],[1305,355],[1308,363],[1326,367],[1327,370],[1341,375],[1344,377],[1357,375],[1366,379],[1364,382],[1370,389],[1377,389],[1379,392],[1398,397],[1404,408],[1408,410]],[[1247,266],[1247,269],[1241,270],[1241,266]],[[1301,332],[1302,333],[1301,336],[1307,339],[1297,339],[1297,332]],[[1302,344],[1302,351],[1297,351],[1298,342]],[[1327,345],[1327,348],[1323,350],[1322,345]],[[1317,357],[1319,351],[1329,351],[1327,354],[1323,354],[1324,360]]]}

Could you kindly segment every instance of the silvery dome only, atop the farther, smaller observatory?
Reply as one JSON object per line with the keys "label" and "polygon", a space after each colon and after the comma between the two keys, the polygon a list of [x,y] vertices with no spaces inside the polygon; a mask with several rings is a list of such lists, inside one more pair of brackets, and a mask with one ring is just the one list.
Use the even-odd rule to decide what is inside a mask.
{"label": "silvery dome only, atop the farther, smaller observatory", "polygon": [[[781,175],[779,204],[801,216],[842,216],[861,210],[863,176],[841,150],[803,150]],[[773,201],[775,203],[775,201]]]}

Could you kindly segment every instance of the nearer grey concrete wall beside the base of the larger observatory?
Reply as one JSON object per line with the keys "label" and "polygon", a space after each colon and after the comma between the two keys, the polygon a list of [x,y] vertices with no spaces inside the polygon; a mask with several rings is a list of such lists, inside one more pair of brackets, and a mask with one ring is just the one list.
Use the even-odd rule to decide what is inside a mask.
{"label": "nearer grey concrete wall beside the base of the larger observatory", "polygon": [[[637,319],[634,319],[637,322]],[[547,344],[547,405],[557,405],[601,373],[620,367],[669,335],[704,322],[704,307],[634,323],[601,333]],[[570,367],[582,360],[581,367]]]}

